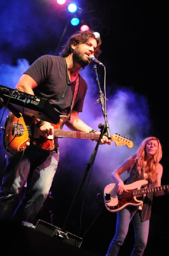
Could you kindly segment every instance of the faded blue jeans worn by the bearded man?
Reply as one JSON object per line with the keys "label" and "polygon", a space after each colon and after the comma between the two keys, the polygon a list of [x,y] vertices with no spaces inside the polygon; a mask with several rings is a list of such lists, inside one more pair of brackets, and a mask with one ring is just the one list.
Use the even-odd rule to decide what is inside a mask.
{"label": "faded blue jeans worn by the bearded man", "polygon": [[[23,155],[7,157],[0,187],[0,221],[31,222],[48,196],[59,162],[59,149],[47,152],[28,148]],[[24,186],[23,198],[16,205]]]}

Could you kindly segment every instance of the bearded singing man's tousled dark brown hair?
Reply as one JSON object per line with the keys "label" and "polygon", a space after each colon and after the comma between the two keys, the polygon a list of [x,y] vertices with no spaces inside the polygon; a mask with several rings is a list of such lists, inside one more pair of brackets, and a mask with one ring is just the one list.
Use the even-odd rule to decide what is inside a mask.
{"label": "bearded singing man's tousled dark brown hair", "polygon": [[99,54],[101,53],[100,45],[101,45],[101,39],[96,38],[95,35],[93,34],[94,32],[92,30],[88,30],[85,32],[77,32],[68,39],[67,43],[63,46],[64,49],[60,53],[62,57],[67,57],[73,52],[73,49],[71,47],[71,44],[84,44],[86,43],[90,38],[96,39],[97,42],[97,47],[94,52],[94,56],[97,58]]}

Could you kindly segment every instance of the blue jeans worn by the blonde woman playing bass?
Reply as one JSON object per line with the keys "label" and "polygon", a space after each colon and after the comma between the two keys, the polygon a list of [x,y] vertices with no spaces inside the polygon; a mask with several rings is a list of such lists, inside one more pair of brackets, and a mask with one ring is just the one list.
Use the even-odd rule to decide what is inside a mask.
{"label": "blue jeans worn by the blonde woman playing bass", "polygon": [[149,220],[141,222],[140,210],[138,210],[132,217],[130,207],[126,207],[117,212],[115,236],[109,245],[106,256],[118,255],[118,251],[127,236],[131,220],[135,232],[135,241],[131,256],[143,255],[148,240]]}

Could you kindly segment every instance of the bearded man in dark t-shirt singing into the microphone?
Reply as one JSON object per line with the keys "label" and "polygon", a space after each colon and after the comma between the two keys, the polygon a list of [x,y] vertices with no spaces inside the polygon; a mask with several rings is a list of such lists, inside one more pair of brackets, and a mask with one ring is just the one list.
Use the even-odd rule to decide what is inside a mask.
{"label": "bearded man in dark t-shirt singing into the microphone", "polygon": [[[100,45],[101,39],[96,38],[93,31],[77,32],[69,38],[61,56],[43,55],[34,61],[20,78],[15,89],[48,99],[59,115],[68,117],[65,125],[71,130],[100,134],[79,118],[87,91],[87,83],[79,71],[90,64],[90,55],[99,56]],[[18,136],[18,131],[22,133],[23,119],[27,124],[27,118],[22,116],[20,122],[12,113],[9,114],[6,127],[7,123],[14,119],[12,132],[15,134],[16,131],[16,136],[13,141]],[[46,140],[53,136],[54,125],[36,117],[32,122],[42,143],[39,139],[23,142],[17,147],[17,153],[10,152],[12,140],[9,139],[9,142],[5,143],[8,165],[0,187],[0,220],[3,221],[12,220],[17,224],[22,224],[23,221],[32,222],[48,196],[58,166],[57,137],[54,138],[54,144]],[[31,130],[27,130],[29,138]],[[8,132],[6,135],[9,135]],[[29,143],[35,147],[29,147]],[[110,145],[111,140],[104,134],[100,144],[106,143]],[[16,198],[25,183],[25,194],[19,205],[15,206]]]}

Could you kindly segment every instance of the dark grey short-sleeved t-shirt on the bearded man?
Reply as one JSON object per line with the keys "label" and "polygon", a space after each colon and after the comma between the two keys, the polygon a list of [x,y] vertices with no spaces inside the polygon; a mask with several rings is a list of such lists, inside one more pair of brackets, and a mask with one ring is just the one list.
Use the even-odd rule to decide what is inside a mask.
{"label": "dark grey short-sleeved t-shirt on the bearded man", "polygon": [[[37,82],[38,86],[33,89],[36,96],[48,99],[59,115],[70,113],[76,80],[71,83],[67,78],[64,58],[43,55],[34,61],[24,74],[31,76]],[[79,74],[79,89],[73,106],[74,111],[82,112],[86,92],[87,83]],[[58,146],[57,140],[55,144]]]}

